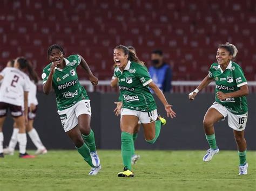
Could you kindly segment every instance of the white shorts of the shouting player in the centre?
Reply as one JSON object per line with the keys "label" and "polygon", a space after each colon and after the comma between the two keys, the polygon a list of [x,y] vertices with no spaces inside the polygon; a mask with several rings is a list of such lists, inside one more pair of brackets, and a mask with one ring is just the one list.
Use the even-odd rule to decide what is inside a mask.
{"label": "white shorts of the shouting player in the centre", "polygon": [[123,115],[134,115],[139,118],[139,122],[142,124],[151,123],[156,121],[158,115],[157,115],[157,109],[150,111],[150,112],[143,112],[143,111],[137,111],[137,110],[131,110],[127,108],[121,109],[121,118]]}

